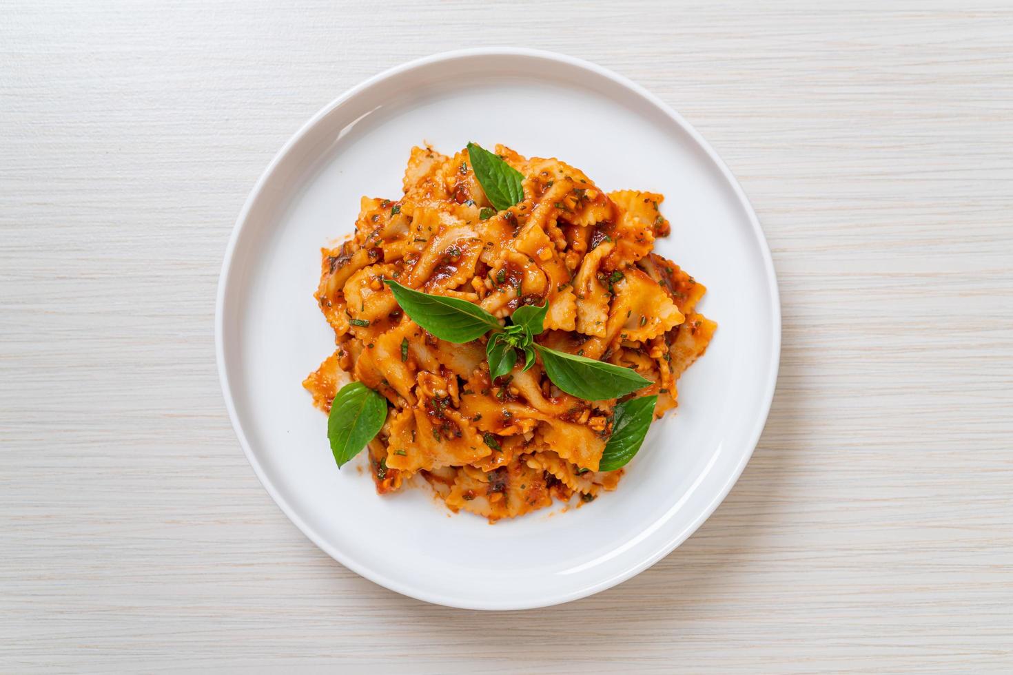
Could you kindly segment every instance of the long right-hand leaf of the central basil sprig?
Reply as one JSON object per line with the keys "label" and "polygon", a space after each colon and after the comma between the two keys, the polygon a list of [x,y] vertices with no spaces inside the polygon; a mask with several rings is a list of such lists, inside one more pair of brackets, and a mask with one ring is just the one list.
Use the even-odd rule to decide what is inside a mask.
{"label": "long right-hand leaf of the central basil sprig", "polygon": [[535,348],[542,355],[545,374],[552,384],[578,399],[617,399],[652,384],[631,368],[567,354],[540,344]]}

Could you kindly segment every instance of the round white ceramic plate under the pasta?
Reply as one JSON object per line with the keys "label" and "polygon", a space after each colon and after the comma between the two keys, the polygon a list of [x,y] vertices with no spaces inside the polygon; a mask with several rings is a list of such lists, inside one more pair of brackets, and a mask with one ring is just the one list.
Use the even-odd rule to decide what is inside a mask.
{"label": "round white ceramic plate under the pasta", "polygon": [[[320,247],[353,231],[362,195],[397,198],[412,145],[468,141],[559,157],[606,190],[663,192],[656,250],[708,287],[718,323],[613,493],[565,513],[489,525],[427,490],[380,497],[338,472],[303,377],[333,350],[313,300]],[[742,473],[767,418],[780,352],[770,253],[714,151],[660,100],[590,63],[491,49],[421,59],[346,92],[282,149],[243,207],[222,268],[218,365],[257,477],[345,567],[428,602],[518,609],[566,602],[644,570],[688,537]]]}

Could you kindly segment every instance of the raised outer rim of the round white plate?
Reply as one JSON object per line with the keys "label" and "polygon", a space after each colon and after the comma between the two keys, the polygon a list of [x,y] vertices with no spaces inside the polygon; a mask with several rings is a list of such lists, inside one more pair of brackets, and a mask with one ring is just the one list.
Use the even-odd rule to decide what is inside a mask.
{"label": "raised outer rim of the round white plate", "polygon": [[[743,208],[747,219],[749,220],[752,233],[756,239],[756,243],[759,246],[759,251],[761,258],[763,260],[763,266],[765,273],[770,279],[770,283],[767,285],[767,292],[769,294],[769,301],[772,309],[772,326],[771,326],[771,351],[772,359],[767,368],[766,372],[766,384],[765,384],[765,396],[761,403],[762,414],[756,417],[754,422],[754,427],[749,435],[749,447],[747,451],[743,453],[742,458],[738,463],[734,467],[733,471],[728,477],[728,480],[723,486],[717,491],[714,498],[706,505],[705,508],[701,509],[699,514],[694,518],[688,526],[682,528],[682,530],[675,533],[675,535],[666,539],[660,546],[658,546],[653,554],[644,557],[642,560],[637,561],[634,565],[631,565],[622,574],[603,579],[594,583],[587,584],[558,596],[545,596],[543,599],[535,602],[512,602],[510,599],[500,599],[496,601],[490,601],[485,599],[483,601],[468,601],[467,599],[462,599],[459,597],[447,596],[440,593],[430,592],[424,589],[417,589],[409,587],[395,579],[391,579],[375,570],[360,565],[358,562],[348,559],[342,552],[338,551],[336,547],[328,543],[323,537],[319,535],[312,527],[310,527],[303,519],[293,510],[292,506],[288,501],[276,490],[270,479],[266,476],[263,468],[260,466],[256,456],[254,455],[249,441],[246,438],[245,432],[243,431],[242,425],[239,422],[238,413],[236,412],[235,402],[232,397],[232,388],[229,382],[229,375],[226,369],[225,363],[225,312],[224,307],[226,303],[226,296],[229,286],[229,278],[232,270],[232,260],[235,254],[236,246],[242,234],[242,231],[246,225],[246,221],[249,218],[250,212],[253,208],[254,203],[259,199],[263,188],[267,183],[275,177],[275,174],[289,155],[292,149],[302,141],[302,139],[310,133],[310,131],[320,122],[321,119],[330,114],[337,106],[344,103],[346,100],[357,96],[361,92],[373,87],[374,85],[391,78],[393,76],[399,75],[406,71],[423,68],[433,64],[441,62],[449,62],[456,60],[467,60],[476,57],[488,57],[488,56],[506,56],[506,57],[528,57],[544,59],[549,61],[555,61],[562,63],[571,67],[576,67],[586,71],[590,71],[592,74],[599,77],[604,77],[612,82],[619,84],[625,89],[629,90],[632,94],[640,96],[642,99],[646,100],[648,103],[653,105],[658,111],[667,115],[672,121],[674,121],[678,126],[682,129],[684,133],[689,135],[689,137],[701,148],[706,154],[708,159],[714,163],[720,172],[721,176],[732,188],[735,196],[738,199],[739,205]],[[627,78],[624,75],[616,73],[612,70],[599,66],[596,63],[586,61],[583,59],[578,59],[575,57],[570,57],[567,55],[559,54],[556,52],[550,52],[546,50],[537,50],[530,48],[519,48],[519,47],[487,47],[487,48],[472,48],[464,50],[453,50],[450,52],[441,52],[433,54],[426,57],[421,57],[418,59],[413,59],[407,61],[400,65],[388,68],[366,80],[360,82],[359,84],[345,90],[342,94],[331,100],[329,103],[321,107],[313,116],[311,116],[307,121],[305,121],[295,134],[293,134],[289,140],[282,146],[275,156],[271,158],[267,167],[263,170],[260,176],[257,178],[243,202],[243,206],[239,212],[239,216],[236,219],[235,225],[232,228],[232,233],[229,236],[228,245],[225,250],[225,256],[222,261],[222,268],[219,273],[218,278],[218,288],[216,292],[215,300],[215,358],[218,367],[219,384],[222,388],[222,395],[225,399],[225,406],[229,413],[229,421],[232,424],[232,429],[239,440],[240,446],[243,448],[243,452],[246,455],[247,461],[249,461],[250,467],[253,469],[253,473],[256,475],[257,480],[259,480],[260,485],[263,486],[267,494],[270,495],[275,504],[282,510],[283,513],[296,525],[297,528],[317,547],[330,556],[333,560],[340,563],[346,569],[352,570],[359,576],[372,581],[380,586],[383,586],[391,591],[405,595],[416,600],[421,600],[423,602],[430,602],[434,604],[444,605],[448,607],[456,607],[461,609],[481,609],[481,610],[514,610],[514,609],[535,609],[540,607],[548,607],[556,604],[562,604],[565,602],[570,602],[573,600],[578,600],[580,598],[594,595],[601,591],[604,591],[613,586],[617,586],[622,582],[631,579],[632,577],[640,574],[647,568],[654,565],[656,562],[671,554],[679,545],[681,545],[686,539],[693,535],[700,528],[700,526],[709,518],[717,507],[724,501],[731,491],[731,488],[738,482],[738,478],[742,476],[756,451],[756,447],[760,441],[760,436],[763,433],[764,427],[767,424],[767,419],[770,415],[771,404],[774,399],[774,392],[777,387],[778,372],[780,369],[781,361],[781,303],[780,303],[780,289],[777,280],[777,273],[774,268],[773,257],[770,253],[770,247],[767,243],[767,238],[764,235],[763,228],[760,225],[760,221],[757,218],[756,212],[753,208],[749,197],[746,195],[745,190],[742,185],[739,185],[738,180],[731,173],[731,170],[725,165],[724,161],[718,156],[715,150],[710,146],[710,144],[690,124],[679,112],[672,108],[668,103],[658,98],[655,94],[648,91],[646,88],[637,84],[633,80]]]}

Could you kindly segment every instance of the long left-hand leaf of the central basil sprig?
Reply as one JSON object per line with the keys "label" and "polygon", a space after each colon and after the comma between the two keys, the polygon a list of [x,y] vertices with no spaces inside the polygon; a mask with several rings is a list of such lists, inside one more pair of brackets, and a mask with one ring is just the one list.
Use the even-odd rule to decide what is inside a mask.
{"label": "long left-hand leaf of the central basil sprig", "polygon": [[460,298],[432,296],[384,279],[394,300],[416,324],[448,342],[471,342],[490,330],[501,330],[491,314]]}

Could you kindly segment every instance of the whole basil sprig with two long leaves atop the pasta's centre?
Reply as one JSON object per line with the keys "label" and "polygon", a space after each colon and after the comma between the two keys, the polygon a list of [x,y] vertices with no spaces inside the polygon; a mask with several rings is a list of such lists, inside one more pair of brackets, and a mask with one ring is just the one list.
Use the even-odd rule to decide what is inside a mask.
{"label": "whole basil sprig with two long leaves atop the pasta's centre", "polygon": [[393,279],[384,279],[384,283],[390,286],[394,299],[412,321],[442,340],[470,342],[491,331],[485,356],[492,378],[514,369],[517,351],[524,353],[524,369],[527,370],[534,364],[537,350],[552,384],[587,401],[617,399],[651,384],[630,368],[537,344],[535,336],[545,330],[548,303],[541,307],[523,305],[514,312],[510,325],[500,326],[491,314],[465,300],[431,296],[407,288]]}

